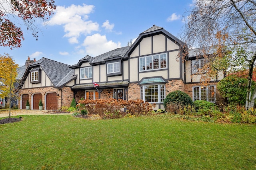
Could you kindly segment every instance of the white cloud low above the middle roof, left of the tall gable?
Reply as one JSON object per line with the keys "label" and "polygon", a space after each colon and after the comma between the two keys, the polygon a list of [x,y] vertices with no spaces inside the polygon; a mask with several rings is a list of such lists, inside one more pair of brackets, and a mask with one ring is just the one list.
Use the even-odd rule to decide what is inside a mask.
{"label": "white cloud low above the middle roof, left of the tall gable", "polygon": [[95,57],[113,49],[120,48],[121,43],[108,41],[106,35],[100,35],[99,33],[96,33],[94,35],[87,36],[86,39],[84,39],[83,46],[85,46],[86,53],[88,55]]}

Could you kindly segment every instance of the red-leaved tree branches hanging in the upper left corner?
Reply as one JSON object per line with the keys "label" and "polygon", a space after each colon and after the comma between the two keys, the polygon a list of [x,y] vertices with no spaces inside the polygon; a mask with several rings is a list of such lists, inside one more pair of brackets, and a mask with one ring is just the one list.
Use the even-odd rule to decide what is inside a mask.
{"label": "red-leaved tree branches hanging in the upper left corner", "polygon": [[35,18],[46,22],[54,9],[54,0],[0,0],[0,46],[18,48],[24,40],[22,29],[10,18],[20,18],[37,40]]}

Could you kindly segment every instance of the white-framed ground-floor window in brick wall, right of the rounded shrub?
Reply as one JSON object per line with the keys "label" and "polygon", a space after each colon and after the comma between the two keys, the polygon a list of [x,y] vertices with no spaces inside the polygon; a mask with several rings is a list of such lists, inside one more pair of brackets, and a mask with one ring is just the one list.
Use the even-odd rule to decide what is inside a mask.
{"label": "white-framed ground-floor window in brick wall, right of the rounded shrub", "polygon": [[193,86],[193,102],[196,100],[206,100],[216,102],[216,86]]}

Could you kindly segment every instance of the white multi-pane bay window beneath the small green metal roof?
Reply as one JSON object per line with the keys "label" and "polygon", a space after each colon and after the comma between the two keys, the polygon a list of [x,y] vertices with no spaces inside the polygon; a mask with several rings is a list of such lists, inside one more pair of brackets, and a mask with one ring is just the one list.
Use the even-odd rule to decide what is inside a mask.
{"label": "white multi-pane bay window beneath the small green metal roof", "polygon": [[140,86],[140,98],[144,102],[163,103],[165,98],[165,85],[145,85]]}

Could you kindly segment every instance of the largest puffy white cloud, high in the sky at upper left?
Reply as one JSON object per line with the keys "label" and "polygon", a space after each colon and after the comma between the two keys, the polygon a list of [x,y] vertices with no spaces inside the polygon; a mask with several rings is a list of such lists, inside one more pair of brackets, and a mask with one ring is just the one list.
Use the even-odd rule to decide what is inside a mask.
{"label": "largest puffy white cloud, high in the sky at upper left", "polygon": [[49,25],[64,25],[65,35],[70,43],[78,43],[81,34],[87,35],[99,30],[97,22],[89,21],[88,14],[93,12],[93,5],[57,6],[55,15],[50,19]]}

